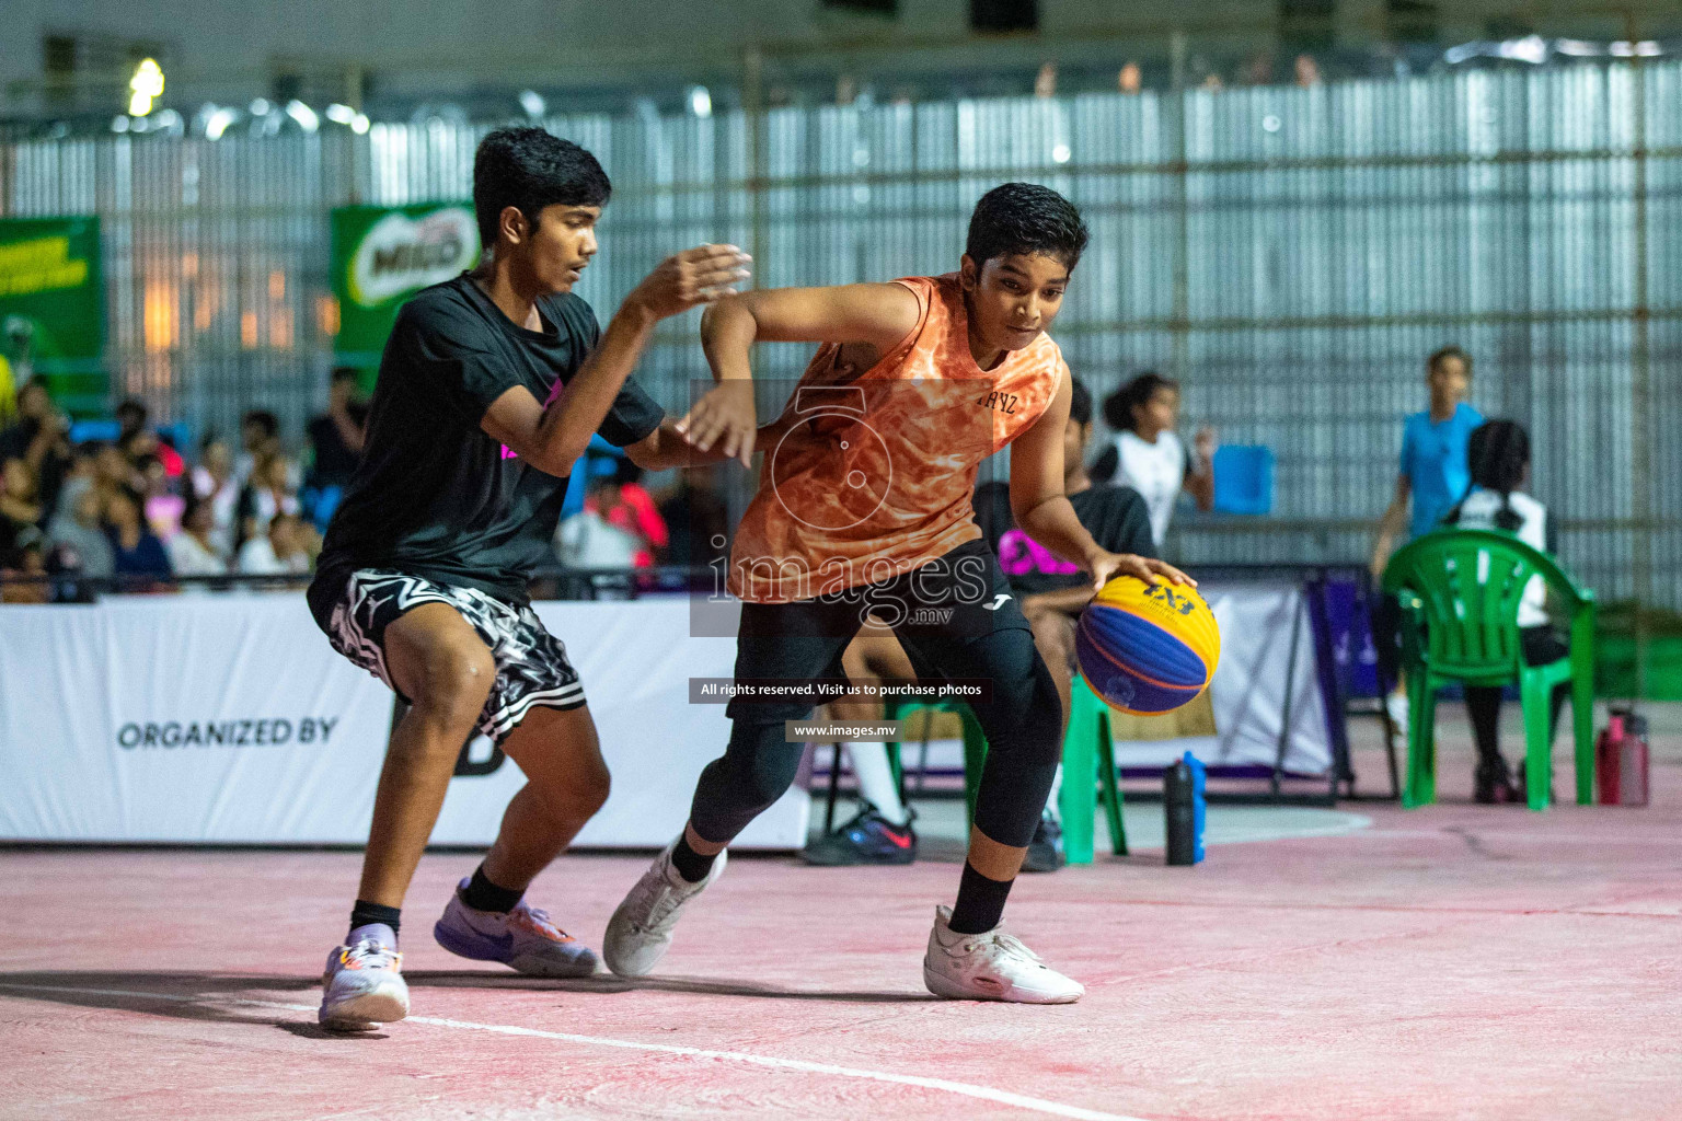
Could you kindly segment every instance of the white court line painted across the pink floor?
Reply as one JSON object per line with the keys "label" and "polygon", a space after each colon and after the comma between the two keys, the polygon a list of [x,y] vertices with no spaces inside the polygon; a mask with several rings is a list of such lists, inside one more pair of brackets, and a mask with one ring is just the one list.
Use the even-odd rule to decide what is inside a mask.
{"label": "white court line painted across the pink floor", "polygon": [[[10,988],[19,992],[42,992],[42,993],[84,993],[93,997],[128,997],[131,1000],[170,1000],[175,1003],[225,1003],[241,1005],[247,1008],[283,1008],[286,1012],[315,1012],[315,1005],[291,1005],[276,1000],[222,1000],[212,1002],[200,997],[177,997],[170,993],[143,993],[131,992],[126,988],[69,988],[61,985],[15,985],[12,982],[0,982],[0,988]],[[570,1032],[543,1032],[533,1027],[511,1027],[506,1024],[474,1024],[471,1020],[444,1020],[439,1017],[412,1015],[404,1020],[405,1024],[426,1024],[429,1027],[451,1027],[463,1032],[491,1032],[495,1035],[523,1035],[526,1039],[553,1039],[563,1044],[585,1044],[590,1047],[619,1047],[624,1050],[649,1050],[663,1055],[683,1055],[686,1059],[727,1059],[732,1062],[745,1062],[757,1067],[774,1067],[780,1071],[804,1071],[807,1074],[829,1074],[834,1077],[848,1079],[865,1079],[870,1082],[893,1082],[897,1086],[917,1086],[920,1089],[939,1089],[949,1094],[962,1094],[964,1097],[979,1097],[981,1101],[994,1101],[1002,1106],[1016,1106],[1018,1109],[1029,1109],[1033,1113],[1043,1113],[1053,1118],[1078,1118],[1080,1121],[1144,1121],[1142,1118],[1130,1118],[1120,1113],[1100,1113],[1098,1109],[1083,1109],[1080,1106],[1065,1106],[1056,1101],[1046,1101],[1045,1097],[1029,1097],[1028,1094],[1013,1094],[1011,1091],[992,1089],[991,1086],[976,1086],[972,1082],[952,1082],[949,1079],[928,1079],[917,1074],[888,1074],[885,1071],[863,1071],[858,1067],[838,1067],[828,1062],[807,1062],[804,1059],[775,1059],[772,1055],[755,1055],[745,1050],[708,1050],[705,1047],[683,1047],[680,1044],[639,1044],[629,1039],[606,1039],[602,1035],[574,1035]]]}

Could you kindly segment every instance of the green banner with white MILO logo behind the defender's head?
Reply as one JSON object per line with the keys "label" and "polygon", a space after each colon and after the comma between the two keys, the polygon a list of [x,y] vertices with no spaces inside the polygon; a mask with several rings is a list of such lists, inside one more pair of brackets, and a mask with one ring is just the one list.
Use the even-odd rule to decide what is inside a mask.
{"label": "green banner with white MILO logo behind the defender's head", "polygon": [[362,368],[370,383],[404,301],[478,261],[471,203],[333,210],[335,360]]}

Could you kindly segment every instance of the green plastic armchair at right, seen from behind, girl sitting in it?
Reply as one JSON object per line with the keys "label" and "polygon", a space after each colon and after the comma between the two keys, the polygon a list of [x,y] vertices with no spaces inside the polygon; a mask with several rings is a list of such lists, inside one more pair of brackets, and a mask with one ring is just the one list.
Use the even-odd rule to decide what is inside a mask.
{"label": "green plastic armchair at right, seen from behind, girl sitting in it", "polygon": [[[1526,666],[1519,600],[1541,576],[1571,617],[1571,652],[1549,666]],[[1571,682],[1578,805],[1595,800],[1595,593],[1552,558],[1497,529],[1436,529],[1413,539],[1384,570],[1384,592],[1403,607],[1403,667],[1408,679],[1408,780],[1404,807],[1436,802],[1436,691],[1519,682],[1524,704],[1524,766],[1532,810],[1547,808],[1552,751],[1549,694]]]}

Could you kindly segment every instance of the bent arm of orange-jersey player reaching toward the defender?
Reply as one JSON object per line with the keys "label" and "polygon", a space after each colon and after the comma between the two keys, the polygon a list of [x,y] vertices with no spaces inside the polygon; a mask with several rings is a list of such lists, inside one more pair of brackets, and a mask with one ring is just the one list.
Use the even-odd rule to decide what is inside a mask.
{"label": "bent arm of orange-jersey player reaching toward the defender", "polygon": [[[701,350],[718,385],[695,403],[678,430],[701,450],[754,457],[754,343],[856,343],[866,358],[891,351],[917,329],[922,309],[903,284],[775,287],[723,299],[701,316]],[[868,368],[875,358],[851,365]]]}

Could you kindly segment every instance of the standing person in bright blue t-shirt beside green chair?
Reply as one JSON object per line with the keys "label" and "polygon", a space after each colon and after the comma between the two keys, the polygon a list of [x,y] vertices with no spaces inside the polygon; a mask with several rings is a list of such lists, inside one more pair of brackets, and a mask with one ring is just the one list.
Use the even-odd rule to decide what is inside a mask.
{"label": "standing person in bright blue t-shirt beside green chair", "polygon": [[[1472,358],[1458,346],[1445,346],[1425,360],[1425,385],[1431,407],[1413,413],[1401,427],[1401,471],[1396,474],[1396,497],[1378,524],[1373,543],[1373,578],[1384,576],[1384,566],[1403,528],[1408,538],[1430,533],[1443,519],[1472,477],[1467,471],[1467,444],[1484,415],[1465,403],[1472,388]],[[1411,516],[1410,516],[1411,506]],[[1401,686],[1401,650],[1398,649],[1399,612],[1393,597],[1384,597],[1373,620],[1379,671],[1394,682],[1386,699],[1391,723],[1408,726],[1408,694]]]}

